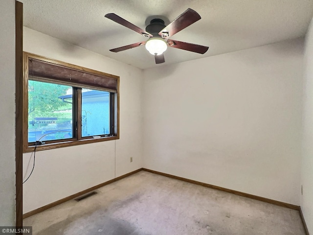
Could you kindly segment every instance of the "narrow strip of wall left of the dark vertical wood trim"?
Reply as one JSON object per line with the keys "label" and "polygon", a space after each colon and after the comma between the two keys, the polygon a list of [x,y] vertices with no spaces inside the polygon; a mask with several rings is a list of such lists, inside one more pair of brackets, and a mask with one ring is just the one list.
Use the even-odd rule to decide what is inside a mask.
{"label": "narrow strip of wall left of the dark vertical wood trim", "polygon": [[0,0],[0,226],[15,225],[15,1]]}

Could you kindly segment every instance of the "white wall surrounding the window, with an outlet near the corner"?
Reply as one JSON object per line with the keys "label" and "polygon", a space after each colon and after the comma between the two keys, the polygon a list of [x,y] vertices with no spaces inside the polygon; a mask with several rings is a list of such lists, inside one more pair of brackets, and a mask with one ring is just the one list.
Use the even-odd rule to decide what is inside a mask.
{"label": "white wall surrounding the window, with an outlet near the corner", "polygon": [[[26,27],[23,33],[24,51],[120,76],[120,139],[38,151],[23,185],[26,213],[142,167],[143,72]],[[31,156],[23,155],[24,179]]]}

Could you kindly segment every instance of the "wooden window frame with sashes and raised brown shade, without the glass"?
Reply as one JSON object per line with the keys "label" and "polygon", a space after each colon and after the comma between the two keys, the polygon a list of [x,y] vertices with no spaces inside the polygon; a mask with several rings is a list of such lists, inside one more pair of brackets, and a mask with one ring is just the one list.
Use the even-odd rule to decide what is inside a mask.
{"label": "wooden window frame with sashes and raised brown shade, without the glass", "polygon": [[[38,82],[46,82],[73,87],[73,94],[70,97],[70,100],[72,100],[71,102],[73,103],[72,137],[70,137],[70,139],[62,139],[64,138],[62,137],[62,140],[52,139],[51,141],[45,141],[43,142],[43,144],[40,143],[40,145],[36,146],[36,151],[119,139],[119,76],[105,72],[94,71],[88,68],[68,64],[66,62],[53,60],[28,52],[24,52],[23,60],[23,152],[31,152],[35,149],[35,143],[28,142],[28,79]],[[97,92],[98,90],[100,91],[100,93],[101,91],[107,92],[104,94],[110,93],[110,134],[102,134],[94,137],[82,137],[83,121],[81,117],[81,88],[96,90],[94,92]],[[66,94],[64,96],[60,96],[60,98],[64,100],[65,98],[63,97],[68,98],[67,96],[68,95]],[[36,120],[36,118],[34,120]],[[106,130],[109,129],[106,128]]]}

